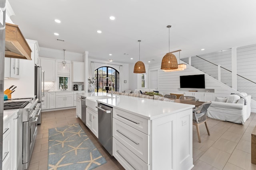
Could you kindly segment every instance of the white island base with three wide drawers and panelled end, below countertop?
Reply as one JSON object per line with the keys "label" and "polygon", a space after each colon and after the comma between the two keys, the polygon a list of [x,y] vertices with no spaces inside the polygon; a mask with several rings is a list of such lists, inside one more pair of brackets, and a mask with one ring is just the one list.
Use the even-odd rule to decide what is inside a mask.
{"label": "white island base with three wide drawers and panelled end, below countertop", "polygon": [[192,109],[149,120],[113,108],[113,156],[125,169],[191,169],[191,134]]}

